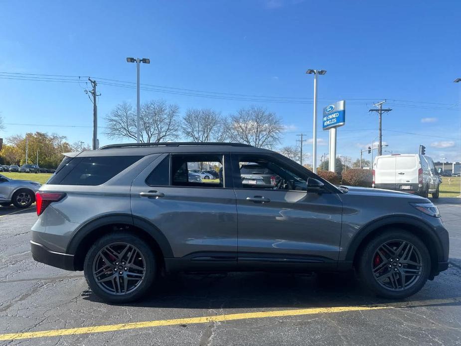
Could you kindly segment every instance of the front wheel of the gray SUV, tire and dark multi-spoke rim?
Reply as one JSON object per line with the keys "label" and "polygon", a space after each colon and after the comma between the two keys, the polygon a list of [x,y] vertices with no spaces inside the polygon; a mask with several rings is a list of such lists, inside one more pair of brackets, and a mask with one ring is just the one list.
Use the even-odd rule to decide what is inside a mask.
{"label": "front wheel of the gray SUV, tire and dark multi-spoke rim", "polygon": [[[401,244],[407,245],[391,255],[392,251],[399,250]],[[383,245],[390,250],[384,250]],[[419,265],[405,263],[408,260]],[[361,280],[376,295],[403,299],[414,295],[424,286],[431,271],[431,257],[426,245],[416,235],[393,229],[378,234],[365,245],[357,269]],[[402,273],[406,276],[402,277]],[[376,278],[377,275],[381,276],[380,280]]]}

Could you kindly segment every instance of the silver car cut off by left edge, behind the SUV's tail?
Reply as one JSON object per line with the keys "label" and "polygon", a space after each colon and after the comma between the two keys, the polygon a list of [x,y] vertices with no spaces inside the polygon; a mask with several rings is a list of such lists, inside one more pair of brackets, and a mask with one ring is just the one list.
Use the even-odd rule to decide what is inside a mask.
{"label": "silver car cut off by left edge, behind the SUV's tail", "polygon": [[11,179],[0,174],[0,205],[27,208],[35,201],[35,192],[40,186],[37,181]]}

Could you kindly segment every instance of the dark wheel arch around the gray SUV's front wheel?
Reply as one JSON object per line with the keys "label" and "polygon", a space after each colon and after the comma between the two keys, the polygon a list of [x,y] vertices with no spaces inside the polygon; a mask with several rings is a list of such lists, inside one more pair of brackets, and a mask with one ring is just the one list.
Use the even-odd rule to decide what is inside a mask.
{"label": "dark wheel arch around the gray SUV's front wheel", "polygon": [[346,253],[345,261],[355,267],[364,245],[379,232],[386,229],[404,229],[418,236],[431,255],[431,276],[436,274],[439,260],[443,257],[443,248],[433,228],[426,222],[409,215],[388,216],[373,220],[357,232]]}

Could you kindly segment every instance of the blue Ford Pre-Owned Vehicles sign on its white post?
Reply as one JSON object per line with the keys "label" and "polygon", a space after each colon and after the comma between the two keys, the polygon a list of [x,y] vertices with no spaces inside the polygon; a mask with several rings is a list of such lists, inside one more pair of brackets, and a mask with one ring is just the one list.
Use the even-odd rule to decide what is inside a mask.
{"label": "blue Ford Pre-Owned Vehicles sign on its white post", "polygon": [[328,170],[336,169],[336,128],[343,126],[346,121],[346,101],[338,101],[323,108],[322,129],[329,130]]}

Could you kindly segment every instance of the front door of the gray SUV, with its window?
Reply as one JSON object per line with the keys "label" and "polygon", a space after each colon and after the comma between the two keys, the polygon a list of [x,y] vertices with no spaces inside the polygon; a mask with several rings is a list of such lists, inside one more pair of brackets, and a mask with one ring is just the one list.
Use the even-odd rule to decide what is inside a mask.
{"label": "front door of the gray SUV, with its window", "polygon": [[[232,154],[231,157],[237,198],[239,266],[261,268],[264,263],[282,267],[335,267],[342,219],[342,202],[337,194],[307,193],[308,171],[297,168],[296,164],[293,167],[282,156]],[[240,169],[251,164],[264,167],[275,178],[275,185],[248,181]]]}

